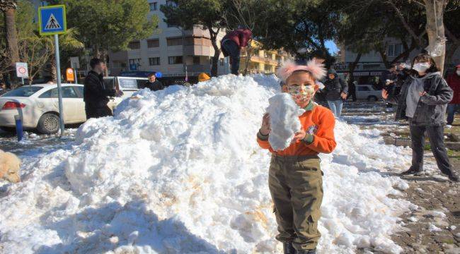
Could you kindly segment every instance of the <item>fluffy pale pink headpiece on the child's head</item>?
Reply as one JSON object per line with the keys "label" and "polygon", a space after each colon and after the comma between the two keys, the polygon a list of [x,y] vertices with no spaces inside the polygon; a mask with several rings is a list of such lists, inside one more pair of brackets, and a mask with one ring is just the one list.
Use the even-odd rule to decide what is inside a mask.
{"label": "fluffy pale pink headpiece on the child's head", "polygon": [[282,80],[282,83],[286,83],[287,78],[293,73],[298,71],[305,71],[309,73],[314,80],[321,80],[326,76],[326,69],[322,63],[316,63],[316,61],[310,60],[306,63],[306,66],[297,65],[292,61],[285,61],[281,68],[277,71],[277,76]]}

